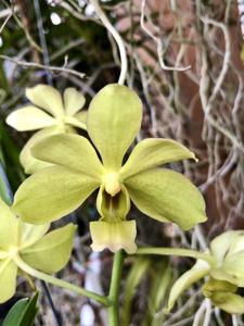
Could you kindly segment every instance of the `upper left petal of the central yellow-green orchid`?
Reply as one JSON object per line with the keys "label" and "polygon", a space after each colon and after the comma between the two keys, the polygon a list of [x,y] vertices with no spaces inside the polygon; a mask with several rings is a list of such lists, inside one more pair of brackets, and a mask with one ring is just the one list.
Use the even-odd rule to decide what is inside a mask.
{"label": "upper left petal of the central yellow-green orchid", "polygon": [[87,138],[78,135],[55,135],[39,141],[31,153],[36,159],[63,165],[97,178],[104,174],[95,150]]}

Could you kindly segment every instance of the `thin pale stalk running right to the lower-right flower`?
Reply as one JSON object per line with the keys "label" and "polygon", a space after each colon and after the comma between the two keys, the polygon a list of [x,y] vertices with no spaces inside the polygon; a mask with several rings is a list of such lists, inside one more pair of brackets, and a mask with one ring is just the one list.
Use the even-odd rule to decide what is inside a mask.
{"label": "thin pale stalk running right to the lower-right flower", "polygon": [[139,248],[136,254],[159,254],[159,255],[180,255],[180,256],[190,256],[197,260],[204,260],[208,262],[210,265],[215,264],[215,259],[209,253],[198,252],[196,250],[191,249],[182,249],[182,248]]}

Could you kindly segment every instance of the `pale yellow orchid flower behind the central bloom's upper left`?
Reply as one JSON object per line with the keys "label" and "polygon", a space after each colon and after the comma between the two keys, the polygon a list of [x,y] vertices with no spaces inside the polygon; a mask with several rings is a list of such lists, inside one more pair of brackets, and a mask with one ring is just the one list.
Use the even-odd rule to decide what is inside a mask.
{"label": "pale yellow orchid flower behind the central bloom's upper left", "polygon": [[21,163],[27,174],[33,174],[50,164],[30,154],[30,148],[44,137],[55,134],[75,133],[74,127],[86,129],[86,112],[79,112],[85,97],[75,88],[66,88],[63,95],[53,87],[38,85],[26,89],[26,97],[33,103],[13,111],[7,124],[18,131],[41,129],[25,145],[21,152]]}

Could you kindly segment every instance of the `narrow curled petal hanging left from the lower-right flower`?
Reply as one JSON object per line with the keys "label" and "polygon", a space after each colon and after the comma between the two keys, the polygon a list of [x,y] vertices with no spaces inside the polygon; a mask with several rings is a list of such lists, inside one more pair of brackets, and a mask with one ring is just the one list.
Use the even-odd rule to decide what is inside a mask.
{"label": "narrow curled petal hanging left from the lower-right flower", "polygon": [[185,272],[183,275],[181,275],[174,286],[171,287],[171,290],[169,292],[169,299],[167,304],[167,312],[169,312],[178,298],[188,290],[195,281],[203,278],[207,275],[209,271],[209,265],[205,261],[197,261],[195,265],[188,272]]}

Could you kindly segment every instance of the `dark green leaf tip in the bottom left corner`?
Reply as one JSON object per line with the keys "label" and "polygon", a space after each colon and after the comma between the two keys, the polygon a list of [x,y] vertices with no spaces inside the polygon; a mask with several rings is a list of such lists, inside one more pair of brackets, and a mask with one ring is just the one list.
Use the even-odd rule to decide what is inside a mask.
{"label": "dark green leaf tip in the bottom left corner", "polygon": [[9,311],[2,326],[31,326],[38,312],[38,292],[30,299],[18,300]]}

